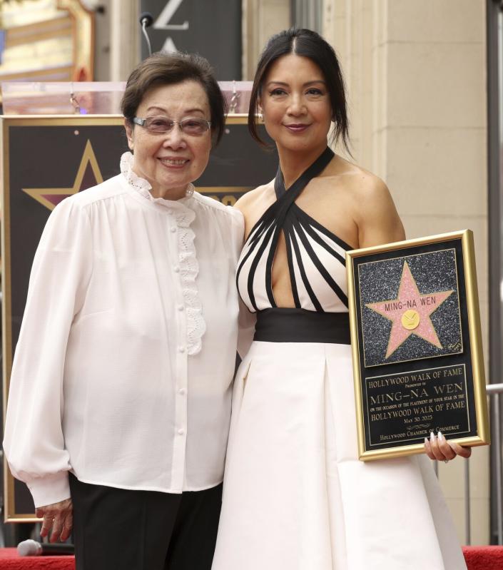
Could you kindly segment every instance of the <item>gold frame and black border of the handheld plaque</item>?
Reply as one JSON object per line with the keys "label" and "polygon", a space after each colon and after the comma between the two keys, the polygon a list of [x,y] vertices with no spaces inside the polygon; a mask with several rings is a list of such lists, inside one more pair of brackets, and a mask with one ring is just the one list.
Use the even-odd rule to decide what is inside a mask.
{"label": "gold frame and black border of the handheld plaque", "polygon": [[[417,357],[412,360],[400,360],[397,358],[394,362],[378,362],[377,365],[365,365],[365,355],[363,354],[363,302],[360,298],[360,275],[358,268],[362,264],[370,264],[385,261],[396,260],[397,258],[409,258],[415,255],[423,255],[424,253],[437,253],[442,251],[439,249],[440,244],[455,245],[461,252],[462,272],[464,275],[458,293],[459,315],[465,315],[467,326],[464,323],[464,330],[467,335],[462,336],[462,345],[458,355],[438,355],[425,356],[429,358],[422,360]],[[474,410],[471,412],[474,419],[475,427],[469,429],[467,437],[447,437],[458,444],[469,447],[489,444],[489,418],[487,412],[487,397],[484,376],[484,360],[482,355],[482,335],[480,327],[480,314],[477,292],[477,276],[475,270],[474,243],[471,230],[462,230],[453,233],[444,233],[440,235],[432,235],[426,238],[418,238],[414,240],[405,240],[396,243],[378,245],[372,248],[361,248],[346,253],[347,268],[347,288],[350,312],[350,329],[351,329],[351,346],[352,346],[352,364],[353,378],[355,384],[355,406],[357,417],[357,439],[358,439],[358,456],[362,461],[370,461],[374,459],[384,459],[386,457],[400,457],[403,455],[419,454],[424,452],[424,443],[415,442],[412,444],[400,444],[400,438],[396,436],[395,444],[387,446],[382,442],[376,447],[372,445],[369,421],[370,406],[365,395],[367,393],[366,380],[372,380],[373,377],[379,375],[379,365],[385,367],[386,375],[392,377],[397,372],[403,374],[402,370],[393,372],[393,366],[400,367],[410,365],[414,367],[417,363],[417,370],[412,372],[424,372],[431,362],[435,363],[434,367],[442,368],[444,364],[457,362],[459,366],[465,365],[469,371],[469,378],[472,378],[472,387],[470,395],[472,396]],[[456,269],[457,279],[459,280],[458,268]],[[401,281],[400,281],[401,283]],[[459,292],[463,291],[463,298],[459,300]],[[459,317],[461,323],[461,317]],[[405,325],[404,325],[405,326]],[[460,328],[461,333],[461,328]],[[461,333],[462,334],[462,333]],[[391,335],[390,335],[391,336]],[[459,349],[458,349],[459,350]],[[469,355],[467,357],[466,355]],[[444,356],[448,356],[450,360],[442,361]],[[384,360],[384,359],[383,359]],[[405,364],[404,364],[405,363]],[[456,365],[456,366],[457,366]],[[453,365],[454,366],[454,365]],[[422,369],[422,370],[421,370]],[[465,370],[465,369],[463,369]],[[467,412],[468,413],[468,412]],[[426,429],[427,424],[422,424]],[[430,429],[434,428],[430,427]],[[387,437],[387,436],[384,436]],[[393,434],[395,437],[395,434]],[[417,439],[416,438],[411,438]]]}

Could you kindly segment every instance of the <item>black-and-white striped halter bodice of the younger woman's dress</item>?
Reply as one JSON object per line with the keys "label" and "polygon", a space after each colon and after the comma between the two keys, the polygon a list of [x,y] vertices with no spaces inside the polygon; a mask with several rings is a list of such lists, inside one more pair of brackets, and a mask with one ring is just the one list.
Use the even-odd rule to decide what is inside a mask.
{"label": "black-and-white striped halter bodice of the younger woman's dress", "polygon": [[[309,181],[325,170],[333,156],[330,148],[325,148],[288,191],[278,168],[274,180],[277,200],[253,226],[238,263],[236,280],[250,310],[278,306],[272,272],[283,232],[295,307],[317,312],[347,311],[345,252],[351,248],[295,203]],[[260,278],[257,280],[255,275]]]}

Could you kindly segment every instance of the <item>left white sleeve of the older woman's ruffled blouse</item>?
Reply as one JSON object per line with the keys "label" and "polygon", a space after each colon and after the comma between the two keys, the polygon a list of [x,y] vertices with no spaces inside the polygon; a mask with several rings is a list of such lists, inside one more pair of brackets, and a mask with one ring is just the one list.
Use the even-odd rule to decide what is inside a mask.
{"label": "left white sleeve of the older woman's ruffled blouse", "polygon": [[76,200],[51,213],[36,250],[6,412],[4,451],[36,507],[70,497],[63,370],[73,317],[92,273],[91,227]]}

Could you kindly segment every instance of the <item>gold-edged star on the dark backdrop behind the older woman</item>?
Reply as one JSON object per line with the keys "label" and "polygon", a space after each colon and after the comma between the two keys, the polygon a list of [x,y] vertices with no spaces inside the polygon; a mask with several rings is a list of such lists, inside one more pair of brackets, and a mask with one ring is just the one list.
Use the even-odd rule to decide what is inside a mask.
{"label": "gold-edged star on the dark backdrop behind the older woman", "polygon": [[103,176],[98,161],[96,161],[91,141],[87,141],[71,188],[23,188],[22,190],[49,210],[54,210],[64,198],[101,182],[103,182]]}

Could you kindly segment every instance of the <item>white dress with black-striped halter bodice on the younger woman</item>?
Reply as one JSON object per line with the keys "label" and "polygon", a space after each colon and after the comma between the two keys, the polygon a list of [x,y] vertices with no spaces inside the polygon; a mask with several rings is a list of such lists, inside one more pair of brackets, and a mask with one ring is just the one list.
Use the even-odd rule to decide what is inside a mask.
{"label": "white dress with black-striped halter bodice on the younger woman", "polygon": [[[281,228],[299,322],[347,315],[350,248],[293,202],[307,174],[287,193],[277,177],[241,254],[238,288],[259,322],[295,312],[275,308],[270,285]],[[357,459],[350,345],[286,331],[295,342],[255,337],[235,379],[213,570],[466,569],[430,459]]]}

